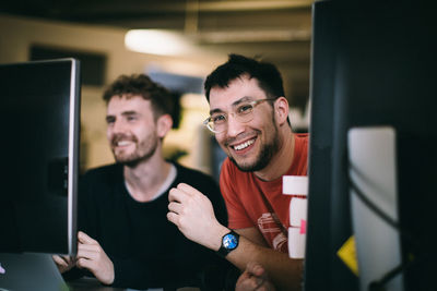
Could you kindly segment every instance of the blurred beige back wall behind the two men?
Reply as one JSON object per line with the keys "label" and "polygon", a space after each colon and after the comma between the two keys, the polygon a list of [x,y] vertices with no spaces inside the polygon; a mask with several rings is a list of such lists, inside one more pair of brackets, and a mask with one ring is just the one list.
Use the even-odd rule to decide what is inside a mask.
{"label": "blurred beige back wall behind the two men", "polygon": [[[125,48],[127,31],[104,26],[84,26],[62,22],[46,22],[35,19],[0,14],[0,63],[28,61],[29,46],[38,44],[71,50],[104,53],[107,57],[106,84],[120,74],[145,72],[147,68],[204,77],[211,69],[226,60],[226,56],[205,52],[196,58],[160,57],[129,51]],[[113,161],[106,141],[105,104],[103,87],[82,87],[82,148],[83,169]],[[181,163],[209,172],[208,145],[200,124],[208,116],[208,104],[201,95],[182,97],[180,130],[173,131],[165,140],[165,151],[174,148],[188,151]],[[202,133],[202,134],[200,134]],[[205,151],[206,150],[206,151]],[[205,154],[206,153],[206,154]]]}

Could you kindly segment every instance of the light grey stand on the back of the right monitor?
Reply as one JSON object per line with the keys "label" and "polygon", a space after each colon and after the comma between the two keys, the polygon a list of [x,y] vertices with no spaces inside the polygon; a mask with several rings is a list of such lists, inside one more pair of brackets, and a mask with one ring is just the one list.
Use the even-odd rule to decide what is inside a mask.
{"label": "light grey stand on the back of the right monitor", "polygon": [[[356,242],[361,290],[369,290],[402,263],[399,231],[370,209],[357,190],[391,221],[399,223],[397,189],[397,138],[390,126],[354,128],[349,131],[351,214]],[[398,274],[385,284],[402,291]]]}

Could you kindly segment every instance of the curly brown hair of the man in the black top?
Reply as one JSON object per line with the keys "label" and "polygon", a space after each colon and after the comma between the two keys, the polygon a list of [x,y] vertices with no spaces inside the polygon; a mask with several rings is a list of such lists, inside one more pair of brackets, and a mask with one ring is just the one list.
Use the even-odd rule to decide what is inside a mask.
{"label": "curly brown hair of the man in the black top", "polygon": [[121,97],[122,95],[127,95],[128,98],[141,96],[150,100],[155,119],[163,114],[173,116],[175,111],[172,94],[144,74],[120,75],[107,87],[103,99],[108,104],[114,96]]}

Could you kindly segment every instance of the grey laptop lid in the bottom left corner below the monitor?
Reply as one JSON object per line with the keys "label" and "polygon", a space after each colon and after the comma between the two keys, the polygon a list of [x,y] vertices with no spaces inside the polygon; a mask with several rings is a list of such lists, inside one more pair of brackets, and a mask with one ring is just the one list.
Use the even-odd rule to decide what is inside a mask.
{"label": "grey laptop lid in the bottom left corner below the monitor", "polygon": [[0,253],[0,291],[68,291],[49,254]]}

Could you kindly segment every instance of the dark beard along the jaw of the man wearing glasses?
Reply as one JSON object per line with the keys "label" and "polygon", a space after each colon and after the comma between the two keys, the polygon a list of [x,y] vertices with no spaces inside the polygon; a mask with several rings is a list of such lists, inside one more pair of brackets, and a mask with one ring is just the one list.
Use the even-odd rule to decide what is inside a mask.
{"label": "dark beard along the jaw of the man wearing glasses", "polygon": [[277,137],[277,129],[273,126],[273,138],[270,143],[264,144],[261,147],[256,160],[251,163],[249,162],[237,162],[231,155],[228,155],[232,162],[234,162],[237,168],[243,172],[256,172],[264,169],[270,160],[273,158],[274,154],[277,153],[280,143]]}

